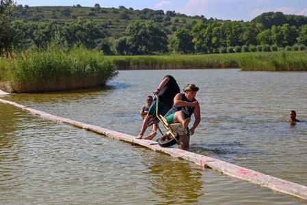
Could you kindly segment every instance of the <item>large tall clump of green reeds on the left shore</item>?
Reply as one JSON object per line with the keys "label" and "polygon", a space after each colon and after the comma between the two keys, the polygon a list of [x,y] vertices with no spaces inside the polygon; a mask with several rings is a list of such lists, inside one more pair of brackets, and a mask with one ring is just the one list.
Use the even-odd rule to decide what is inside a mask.
{"label": "large tall clump of green reeds on the left shore", "polygon": [[28,50],[0,58],[0,81],[14,92],[46,92],[104,85],[117,74],[116,66],[98,51],[59,47]]}

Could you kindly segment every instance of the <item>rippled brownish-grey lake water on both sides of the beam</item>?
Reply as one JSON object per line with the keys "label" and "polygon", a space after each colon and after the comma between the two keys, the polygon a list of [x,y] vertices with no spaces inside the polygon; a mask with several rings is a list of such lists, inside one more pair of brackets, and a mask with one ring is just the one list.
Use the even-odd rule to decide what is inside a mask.
{"label": "rippled brownish-grey lake water on both sides of the beam", "polygon": [[[121,71],[107,87],[3,96],[137,135],[165,74],[200,87],[191,151],[307,186],[307,72]],[[289,111],[297,122],[287,122]],[[150,130],[150,129],[148,129]],[[304,204],[129,143],[0,104],[0,204]]]}

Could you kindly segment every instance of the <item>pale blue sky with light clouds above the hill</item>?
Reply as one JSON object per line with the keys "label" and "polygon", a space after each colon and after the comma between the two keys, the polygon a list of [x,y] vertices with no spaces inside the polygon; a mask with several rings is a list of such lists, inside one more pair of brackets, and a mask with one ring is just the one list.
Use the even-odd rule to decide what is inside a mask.
{"label": "pale blue sky with light clouds above the hill", "polygon": [[118,8],[123,5],[135,10],[171,10],[189,16],[203,15],[206,18],[244,21],[250,21],[263,12],[307,16],[307,0],[16,0],[16,3],[29,6],[80,4],[90,7],[99,3],[102,8]]}

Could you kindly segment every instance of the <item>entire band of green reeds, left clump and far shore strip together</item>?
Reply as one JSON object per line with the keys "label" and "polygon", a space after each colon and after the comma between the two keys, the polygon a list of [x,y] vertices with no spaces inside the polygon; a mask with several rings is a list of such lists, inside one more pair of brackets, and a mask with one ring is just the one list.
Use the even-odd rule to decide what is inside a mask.
{"label": "entire band of green reeds, left clump and far shore strip together", "polygon": [[51,44],[47,49],[29,49],[0,57],[0,89],[21,93],[95,87],[116,77],[117,70],[241,68],[243,71],[307,71],[306,51],[105,56],[82,47],[70,51],[63,48]]}

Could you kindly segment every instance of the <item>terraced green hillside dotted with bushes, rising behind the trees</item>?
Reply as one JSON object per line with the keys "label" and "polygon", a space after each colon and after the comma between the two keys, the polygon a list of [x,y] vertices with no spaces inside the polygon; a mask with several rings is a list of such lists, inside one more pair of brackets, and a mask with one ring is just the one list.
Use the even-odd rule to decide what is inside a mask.
{"label": "terraced green hillside dotted with bushes, rising behind the trees", "polygon": [[[79,17],[89,18],[98,25],[107,29],[111,36],[119,38],[125,31],[127,25],[137,20],[154,20],[161,23],[167,34],[174,33],[178,28],[191,29],[193,25],[206,22],[204,16],[187,16],[174,11],[163,12],[163,10],[133,10],[133,8],[101,8],[75,6],[40,6],[29,7],[18,5],[15,10],[16,17],[20,20],[29,21],[51,21],[66,23]],[[211,18],[213,20],[213,18]]]}

